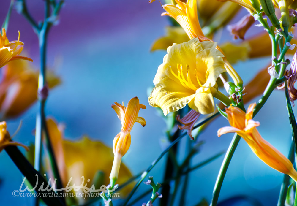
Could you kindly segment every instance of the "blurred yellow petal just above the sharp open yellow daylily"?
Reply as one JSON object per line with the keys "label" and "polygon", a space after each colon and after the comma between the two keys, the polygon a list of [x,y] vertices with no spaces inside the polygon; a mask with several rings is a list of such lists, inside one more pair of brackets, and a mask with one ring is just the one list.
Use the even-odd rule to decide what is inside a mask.
{"label": "blurred yellow petal just above the sharp open yellow daylily", "polygon": [[151,46],[151,51],[158,49],[166,50],[169,46],[173,45],[173,43],[181,44],[183,42],[189,41],[188,35],[180,26],[167,26],[165,29],[165,36],[154,41],[153,45]]}

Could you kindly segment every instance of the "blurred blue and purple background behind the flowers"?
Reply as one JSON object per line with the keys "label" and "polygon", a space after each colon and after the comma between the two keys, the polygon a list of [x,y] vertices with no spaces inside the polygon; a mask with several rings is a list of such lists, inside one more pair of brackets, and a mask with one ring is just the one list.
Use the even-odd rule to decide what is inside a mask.
{"label": "blurred blue and purple background behind the flowers", "polygon": [[[27,3],[34,18],[42,19],[44,2],[28,0]],[[9,0],[1,1],[0,22],[5,18],[9,4]],[[139,113],[146,119],[147,125],[142,128],[140,124],[135,124],[131,132],[131,147],[123,157],[123,162],[133,174],[149,167],[167,146],[162,141],[165,122],[147,100],[147,89],[153,86],[154,75],[166,53],[149,51],[152,42],[164,35],[165,26],[169,24],[167,17],[160,16],[162,12],[157,1],[153,4],[149,4],[148,0],[66,1],[60,12],[59,25],[53,26],[48,36],[47,65],[61,78],[61,84],[50,91],[46,113],[65,125],[64,136],[67,139],[77,140],[86,134],[111,147],[121,123],[110,105],[122,101],[126,105],[129,99],[138,96],[140,104],[147,106]],[[242,10],[231,23],[246,13]],[[20,40],[25,43],[24,51],[33,59],[30,65],[38,69],[37,36],[23,16],[13,10],[7,30],[10,41],[17,39],[18,30]],[[247,37],[262,30],[253,27],[247,32]],[[232,40],[232,37],[224,30],[214,40],[224,42]],[[266,66],[268,60],[269,57],[240,62],[234,67],[248,82],[259,69]],[[22,115],[7,120],[11,134],[23,121],[14,137],[15,141],[25,145],[34,142],[36,112],[37,104],[34,103]],[[291,136],[284,92],[274,91],[255,119],[261,123],[258,130],[263,138],[287,156]],[[228,122],[220,117],[200,135],[200,140],[205,144],[193,158],[192,164],[227,150],[233,134],[217,137],[217,129],[227,125]],[[179,145],[181,157],[186,138]],[[24,151],[22,148],[20,150]],[[90,157],[96,158],[99,157]],[[222,160],[223,156],[191,173],[186,194],[188,205],[195,205],[202,198],[210,201]],[[32,198],[12,196],[12,191],[19,189],[23,177],[5,151],[0,153],[0,162],[0,205],[33,205]],[[162,159],[150,173],[156,182],[162,181],[164,164],[165,159]],[[281,173],[258,159],[245,141],[240,141],[219,201],[245,194],[263,205],[276,205],[282,177]],[[147,189],[149,186],[141,185],[134,197]],[[149,197],[150,194],[138,205],[147,202]]]}

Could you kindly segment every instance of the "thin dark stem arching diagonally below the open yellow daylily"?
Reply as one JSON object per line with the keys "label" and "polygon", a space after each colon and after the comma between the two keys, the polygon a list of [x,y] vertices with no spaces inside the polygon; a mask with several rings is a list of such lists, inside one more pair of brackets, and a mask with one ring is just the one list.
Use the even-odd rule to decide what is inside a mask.
{"label": "thin dark stem arching diagonally below the open yellow daylily", "polygon": [[[207,121],[211,120],[212,118],[216,117],[217,115],[219,115],[219,112],[217,112],[216,114],[210,116],[209,118],[201,121],[200,123],[198,123],[195,127],[200,127],[201,125],[203,125],[204,123],[206,123]],[[136,185],[134,186],[134,188],[132,189],[132,191],[130,192],[129,196],[127,197],[127,199],[125,200],[123,206],[126,206],[129,202],[129,200],[131,199],[132,195],[135,193],[135,191],[137,190],[137,188],[139,187],[139,185],[143,182],[144,178],[146,178],[146,176],[149,174],[149,172],[154,168],[154,166],[160,161],[160,159],[162,159],[162,157],[169,151],[170,148],[173,147],[173,145],[175,145],[179,140],[181,140],[183,137],[187,136],[187,132],[184,132],[183,134],[181,134],[176,140],[174,140],[160,155],[159,157],[153,161],[153,163],[148,167],[148,169],[146,169],[145,172],[143,172],[143,174],[141,175],[140,180],[136,183]]]}

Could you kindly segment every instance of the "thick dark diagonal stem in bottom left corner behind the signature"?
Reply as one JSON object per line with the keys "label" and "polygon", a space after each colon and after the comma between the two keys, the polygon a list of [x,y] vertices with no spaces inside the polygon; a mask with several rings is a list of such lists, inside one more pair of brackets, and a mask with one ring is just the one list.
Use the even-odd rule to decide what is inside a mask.
{"label": "thick dark diagonal stem in bottom left corner behind the signature", "polygon": [[[24,175],[24,177],[26,177],[26,180],[29,181],[31,186],[35,187],[37,185],[35,191],[40,194],[40,198],[43,200],[43,202],[45,202],[45,204],[64,206],[64,203],[59,197],[57,197],[57,195],[55,195],[55,197],[49,197],[48,194],[54,192],[53,189],[50,189],[49,192],[46,190],[45,191],[39,190],[39,188],[46,188],[49,183],[45,181],[44,177],[38,171],[36,171],[34,167],[32,167],[32,165],[29,163],[26,157],[23,156],[23,154],[16,146],[8,146],[4,150],[7,152],[8,156],[10,156],[10,158],[18,167],[20,172]],[[38,177],[38,181],[37,181],[37,177]],[[51,187],[49,186],[48,188],[51,188]],[[32,189],[32,188],[29,188],[29,189]]]}

